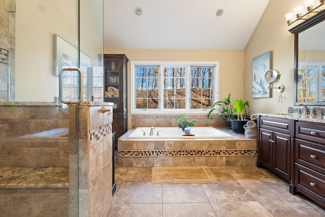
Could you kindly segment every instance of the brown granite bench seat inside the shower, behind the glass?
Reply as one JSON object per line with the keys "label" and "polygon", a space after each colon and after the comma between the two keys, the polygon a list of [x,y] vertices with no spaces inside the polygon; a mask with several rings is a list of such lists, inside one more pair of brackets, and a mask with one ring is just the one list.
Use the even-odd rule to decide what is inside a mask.
{"label": "brown granite bench seat inside the shower, behind the glass", "polygon": [[0,167],[0,188],[69,188],[69,168]]}

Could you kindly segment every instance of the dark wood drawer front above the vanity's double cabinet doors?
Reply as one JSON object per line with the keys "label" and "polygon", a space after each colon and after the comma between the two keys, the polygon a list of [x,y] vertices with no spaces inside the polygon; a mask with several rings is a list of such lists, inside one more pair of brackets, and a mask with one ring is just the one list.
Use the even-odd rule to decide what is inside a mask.
{"label": "dark wood drawer front above the vanity's double cabinet doors", "polygon": [[259,119],[259,127],[291,134],[294,131],[294,120],[261,117]]}

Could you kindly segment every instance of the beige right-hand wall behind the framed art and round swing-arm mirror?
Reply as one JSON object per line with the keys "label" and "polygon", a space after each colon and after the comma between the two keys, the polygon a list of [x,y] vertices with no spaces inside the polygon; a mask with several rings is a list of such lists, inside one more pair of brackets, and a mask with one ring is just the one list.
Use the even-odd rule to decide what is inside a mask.
{"label": "beige right-hand wall behind the framed art and round swing-arm mirror", "polygon": [[[270,0],[245,48],[245,98],[249,99],[251,113],[286,113],[294,105],[294,34],[288,30],[284,14],[302,4],[301,0]],[[300,21],[297,22],[297,24]],[[276,85],[284,85],[284,102],[277,102],[279,92],[272,90],[271,98],[251,98],[252,59],[268,51],[273,53],[273,68],[280,71]]]}

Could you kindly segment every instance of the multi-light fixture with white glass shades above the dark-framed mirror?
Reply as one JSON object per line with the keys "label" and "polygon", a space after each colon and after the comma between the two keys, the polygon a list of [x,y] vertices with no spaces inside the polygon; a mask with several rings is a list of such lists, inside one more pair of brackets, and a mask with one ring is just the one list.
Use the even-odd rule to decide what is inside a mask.
{"label": "multi-light fixture with white glass shades above the dark-framed mirror", "polygon": [[[294,8],[294,12],[286,13],[285,20],[286,23],[289,25],[293,24],[294,22],[298,20],[307,20],[310,16],[309,14],[317,14],[318,12],[324,10],[321,6],[324,5],[325,0],[319,0],[319,5],[314,8],[314,2],[315,0],[305,0],[304,5],[306,7],[307,12],[305,14],[303,13],[304,5],[299,5]],[[319,9],[319,10],[316,10]],[[294,17],[296,16],[296,19],[294,20]]]}

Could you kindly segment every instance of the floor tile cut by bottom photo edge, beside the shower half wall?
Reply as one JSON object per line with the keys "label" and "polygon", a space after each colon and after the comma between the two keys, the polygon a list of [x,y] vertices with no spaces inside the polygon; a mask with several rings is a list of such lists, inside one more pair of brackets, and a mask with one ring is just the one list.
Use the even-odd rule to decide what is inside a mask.
{"label": "floor tile cut by bottom photo edge, beside the shower half wall", "polygon": [[160,217],[162,204],[114,204],[109,217]]}

